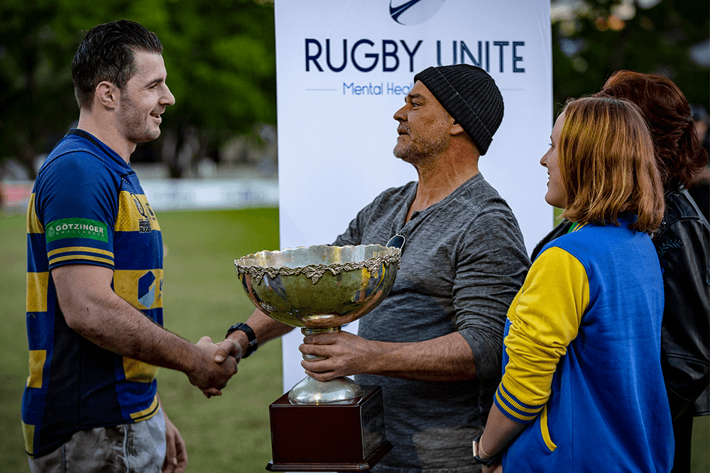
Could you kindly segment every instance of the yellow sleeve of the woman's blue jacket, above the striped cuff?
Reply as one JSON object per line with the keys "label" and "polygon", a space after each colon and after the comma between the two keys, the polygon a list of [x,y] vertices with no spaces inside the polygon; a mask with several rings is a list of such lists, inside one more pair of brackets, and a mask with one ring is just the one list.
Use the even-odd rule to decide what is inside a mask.
{"label": "yellow sleeve of the woman's blue jacket, above the striped cuff", "polygon": [[542,252],[508,311],[502,384],[513,399],[528,406],[547,402],[557,362],[577,337],[587,306],[589,279],[581,262],[559,247]]}

